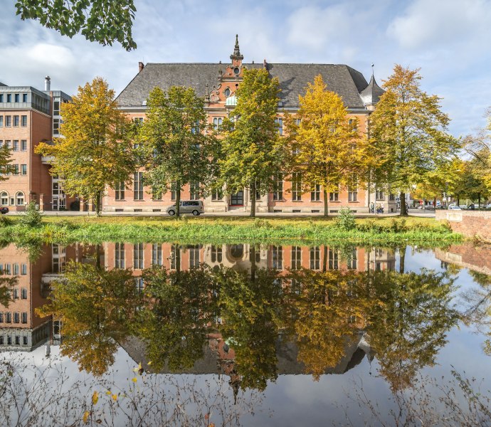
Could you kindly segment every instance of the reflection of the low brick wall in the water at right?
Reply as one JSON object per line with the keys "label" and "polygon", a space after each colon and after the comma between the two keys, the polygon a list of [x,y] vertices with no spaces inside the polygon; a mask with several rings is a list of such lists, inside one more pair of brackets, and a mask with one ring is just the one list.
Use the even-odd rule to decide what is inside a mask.
{"label": "reflection of the low brick wall in the water at right", "polygon": [[450,245],[448,248],[435,248],[435,256],[445,264],[491,275],[491,245],[475,246],[473,243]]}

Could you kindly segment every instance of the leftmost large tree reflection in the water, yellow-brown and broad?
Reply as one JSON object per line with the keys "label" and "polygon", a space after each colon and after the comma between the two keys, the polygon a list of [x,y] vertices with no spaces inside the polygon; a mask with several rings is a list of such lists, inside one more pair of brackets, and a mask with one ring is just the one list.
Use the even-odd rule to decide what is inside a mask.
{"label": "leftmost large tree reflection in the water, yellow-brown and broad", "polygon": [[50,302],[36,309],[38,315],[61,320],[61,354],[77,361],[80,370],[103,374],[139,306],[131,271],[68,263],[63,279],[51,285]]}

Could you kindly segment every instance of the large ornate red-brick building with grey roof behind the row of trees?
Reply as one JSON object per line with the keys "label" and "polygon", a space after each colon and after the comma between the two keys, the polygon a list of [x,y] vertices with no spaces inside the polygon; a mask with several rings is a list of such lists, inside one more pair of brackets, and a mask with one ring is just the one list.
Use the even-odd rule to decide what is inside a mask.
{"label": "large ornate red-brick building with grey roof behind the row of trees", "polygon": [[[236,106],[235,93],[243,81],[245,68],[264,68],[271,77],[280,81],[280,102],[278,104],[277,125],[280,135],[283,130],[285,113],[295,115],[298,96],[305,94],[307,83],[312,83],[317,75],[322,75],[329,90],[342,97],[349,117],[359,122],[359,132],[368,132],[369,115],[374,110],[382,90],[372,75],[369,83],[359,71],[348,65],[333,64],[295,64],[295,63],[243,63],[238,40],[231,62],[225,63],[139,63],[139,72],[118,95],[120,109],[132,120],[145,120],[147,97],[156,86],[168,90],[172,85],[183,85],[194,88],[196,95],[203,97],[208,115],[208,123],[218,129],[225,117]],[[174,203],[175,194],[169,191],[161,199],[152,198],[152,192],[142,184],[143,170],[134,172],[133,185],[130,188],[121,186],[108,189],[102,202],[105,212],[164,212],[164,208]],[[181,200],[199,199],[196,188],[199,183],[185,186],[181,192]],[[329,194],[329,212],[336,214],[341,206],[349,206],[352,211],[368,212],[371,203],[384,206],[385,211],[396,210],[396,200],[384,191],[369,194],[365,186],[357,189],[340,188]],[[256,211],[258,212],[292,212],[322,213],[324,200],[320,186],[303,193],[297,191],[296,181],[278,179],[276,191],[260,196],[258,194]],[[249,211],[250,194],[248,189],[236,194],[211,194],[204,199],[205,211]]]}

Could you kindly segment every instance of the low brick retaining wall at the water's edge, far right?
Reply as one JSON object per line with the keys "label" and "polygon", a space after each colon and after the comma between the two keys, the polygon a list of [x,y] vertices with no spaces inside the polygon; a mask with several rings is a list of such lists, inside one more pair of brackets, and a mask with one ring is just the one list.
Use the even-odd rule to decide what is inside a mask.
{"label": "low brick retaining wall at the water's edge, far right", "polygon": [[448,221],[452,230],[467,237],[491,242],[491,211],[435,211],[438,221]]}

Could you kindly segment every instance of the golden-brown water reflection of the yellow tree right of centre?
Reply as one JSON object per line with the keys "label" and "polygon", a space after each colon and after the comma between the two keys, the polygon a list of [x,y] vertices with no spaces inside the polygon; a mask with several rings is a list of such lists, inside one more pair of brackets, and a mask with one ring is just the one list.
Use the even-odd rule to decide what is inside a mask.
{"label": "golden-brown water reflection of the yellow tree right of centre", "polygon": [[373,303],[354,271],[307,269],[293,271],[292,304],[295,305],[295,334],[298,360],[319,379],[345,355],[349,342],[359,332]]}

